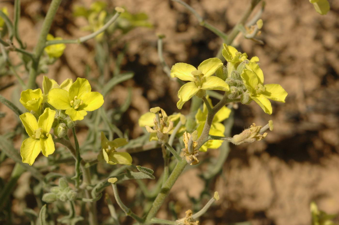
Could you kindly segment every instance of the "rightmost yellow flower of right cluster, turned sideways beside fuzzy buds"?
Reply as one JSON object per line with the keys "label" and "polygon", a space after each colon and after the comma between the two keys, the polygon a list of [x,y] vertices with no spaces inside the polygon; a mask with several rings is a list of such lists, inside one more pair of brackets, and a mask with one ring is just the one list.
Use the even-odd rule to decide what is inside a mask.
{"label": "rightmost yellow flower of right cluster, turned sideways beside fuzzy buds", "polygon": [[279,84],[263,85],[264,74],[257,63],[248,63],[241,74],[241,79],[250,97],[258,103],[265,113],[272,114],[272,105],[268,99],[285,102],[287,92]]}

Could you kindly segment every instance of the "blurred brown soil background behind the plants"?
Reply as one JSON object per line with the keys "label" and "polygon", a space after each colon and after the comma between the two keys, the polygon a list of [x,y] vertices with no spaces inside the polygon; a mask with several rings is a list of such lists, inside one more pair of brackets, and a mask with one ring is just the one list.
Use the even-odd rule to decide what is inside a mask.
{"label": "blurred brown soil background behind the plants", "polygon": [[[21,1],[19,32],[27,50],[32,50],[36,44],[49,2]],[[112,41],[104,48],[109,62],[105,76],[112,76],[117,70],[118,60],[120,72],[135,74],[132,79],[117,85],[105,98],[106,108],[114,109],[123,105],[131,91],[131,104],[116,125],[122,131],[128,130],[132,139],[143,133],[138,119],[149,108],[159,106],[168,115],[173,112],[187,114],[189,110],[189,103],[181,111],[176,107],[180,86],[162,70],[156,33],[165,35],[163,54],[169,67],[177,62],[198,66],[203,60],[215,57],[222,41],[200,26],[186,8],[170,0],[104,2],[108,12],[113,12],[115,6],[122,6],[131,14],[144,13],[148,17],[147,23],[140,27],[112,33]],[[207,22],[226,32],[240,19],[250,0],[185,2]],[[330,12],[321,16],[308,0],[266,1],[259,37],[264,44],[244,39],[241,35],[236,38],[234,44],[239,51],[246,52],[249,58],[259,57],[265,83],[280,84],[288,96],[285,104],[272,102],[272,115],[265,114],[254,102],[239,105],[232,135],[253,122],[265,125],[270,119],[274,121],[274,131],[262,141],[231,145],[222,172],[208,183],[210,193],[219,192],[220,201],[200,218],[201,224],[250,221],[254,225],[306,225],[311,223],[311,201],[316,201],[318,207],[327,213],[339,212],[339,2],[329,2]],[[63,39],[87,35],[89,31],[82,29],[88,25],[86,19],[74,16],[73,12],[75,5],[89,7],[92,3],[92,0],[62,1],[50,33]],[[13,17],[13,4],[13,1],[0,1],[0,7],[8,8],[10,18]],[[15,54],[11,52],[10,56],[15,57]],[[68,44],[64,54],[48,67],[45,75],[58,83],[65,78],[85,77],[85,74],[94,80],[101,75],[97,54],[96,40]],[[21,75],[25,78],[25,74]],[[42,78],[42,75],[38,77],[38,83],[41,84]],[[0,93],[3,96],[12,99],[13,92],[18,89],[14,76],[1,74]],[[0,105],[0,111],[6,113],[0,118],[0,133],[14,130],[16,116],[3,105]],[[86,127],[79,125],[78,130],[85,133]],[[18,141],[16,147],[19,148],[20,144]],[[219,150],[209,150],[199,157],[211,157],[213,161],[218,154]],[[159,178],[162,173],[160,149],[133,154],[132,157],[134,164],[154,169],[156,178]],[[156,161],[159,164],[154,164]],[[14,162],[6,159],[0,166],[0,177],[8,179],[13,166]],[[158,213],[159,218],[173,219],[174,215],[181,218],[193,207],[206,187],[197,176],[204,170],[206,166],[194,167],[177,180]],[[39,210],[29,188],[29,179],[28,173],[20,177],[11,198],[16,224],[29,223],[22,208]],[[154,181],[148,181],[149,186],[153,184]],[[119,190],[127,205],[140,192],[135,182],[124,182]],[[113,198],[112,188],[107,188],[106,192]],[[134,207],[137,214],[142,212],[142,205]],[[99,218],[109,217],[103,199],[98,201],[98,208],[102,213]],[[122,224],[133,223],[129,218],[121,220]]]}

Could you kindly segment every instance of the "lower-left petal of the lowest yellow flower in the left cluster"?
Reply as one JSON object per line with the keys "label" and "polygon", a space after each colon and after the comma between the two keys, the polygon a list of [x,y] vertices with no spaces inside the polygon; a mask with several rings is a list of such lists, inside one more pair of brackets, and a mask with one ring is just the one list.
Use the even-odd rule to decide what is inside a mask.
{"label": "lower-left petal of the lowest yellow flower in the left cluster", "polygon": [[22,162],[32,165],[41,151],[39,139],[26,138],[20,147]]}

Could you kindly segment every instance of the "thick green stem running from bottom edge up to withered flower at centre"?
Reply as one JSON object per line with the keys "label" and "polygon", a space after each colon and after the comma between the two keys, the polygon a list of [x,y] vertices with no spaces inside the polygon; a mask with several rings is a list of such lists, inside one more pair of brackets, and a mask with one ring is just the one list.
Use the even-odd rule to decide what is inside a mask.
{"label": "thick green stem running from bottom edge up to withered flower at centre", "polygon": [[187,165],[186,159],[181,159],[180,161],[177,162],[176,166],[174,167],[174,170],[172,171],[171,175],[169,175],[166,183],[163,185],[160,193],[154,200],[151,209],[147,213],[145,224],[152,223],[151,219],[155,217],[155,215],[157,214],[160,206],[162,205],[166,196],[168,195],[169,190],[171,190],[172,186],[174,185],[175,181],[178,179],[179,175],[182,173],[186,165]]}

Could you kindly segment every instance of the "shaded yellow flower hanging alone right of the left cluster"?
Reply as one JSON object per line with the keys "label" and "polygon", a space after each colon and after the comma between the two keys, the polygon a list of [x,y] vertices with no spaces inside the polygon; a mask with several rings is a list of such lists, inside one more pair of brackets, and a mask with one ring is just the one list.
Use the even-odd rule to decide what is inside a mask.
{"label": "shaded yellow flower hanging alone right of the left cluster", "polygon": [[[101,148],[104,160],[111,165],[123,164],[131,165],[132,157],[127,152],[117,152],[116,148],[127,144],[125,138],[116,138],[113,141],[108,141],[105,134],[101,131]],[[99,156],[100,157],[100,156]]]}

